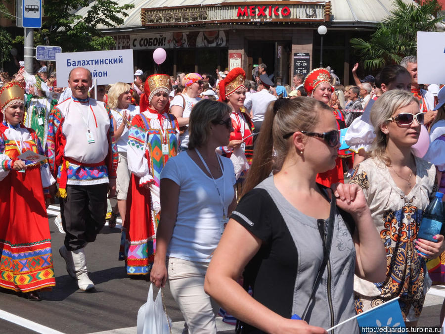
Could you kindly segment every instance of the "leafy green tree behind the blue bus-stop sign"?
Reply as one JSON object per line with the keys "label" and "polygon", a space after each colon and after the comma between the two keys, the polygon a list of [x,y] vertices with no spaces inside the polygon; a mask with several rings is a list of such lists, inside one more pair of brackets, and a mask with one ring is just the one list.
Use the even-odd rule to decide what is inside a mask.
{"label": "leafy green tree behind the blue bus-stop sign", "polygon": [[[86,16],[74,13],[81,7],[89,7]],[[126,10],[133,7],[111,0],[45,0],[42,29],[34,31],[34,45],[59,46],[63,52],[108,50],[115,42],[103,36],[97,26],[123,24]],[[23,37],[18,36],[14,42],[23,44]]]}

